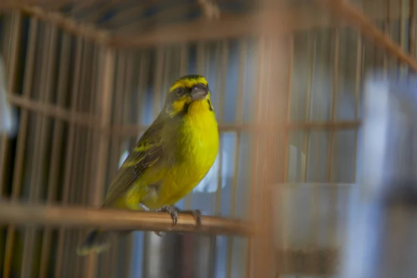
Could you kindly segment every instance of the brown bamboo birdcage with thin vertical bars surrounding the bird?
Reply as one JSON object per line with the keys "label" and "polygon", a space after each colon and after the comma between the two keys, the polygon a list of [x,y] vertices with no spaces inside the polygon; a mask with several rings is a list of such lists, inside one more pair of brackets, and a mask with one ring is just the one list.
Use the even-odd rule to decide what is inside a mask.
{"label": "brown bamboo birdcage with thin vertical bars surrounding the bird", "polygon": [[[174,261],[181,268],[202,265],[184,255],[193,248],[208,277],[337,275],[355,202],[363,79],[374,68],[404,78],[417,69],[414,0],[0,8],[1,85],[19,111],[17,136],[0,144],[2,277],[202,277],[149,270],[176,256],[188,258]],[[204,214],[198,229],[181,214],[175,227],[195,238],[155,252],[170,235],[154,243],[147,231],[170,227],[168,215],[99,208],[164,92],[189,73],[208,79],[221,147],[178,204]],[[106,254],[76,256],[91,227],[136,231]]]}

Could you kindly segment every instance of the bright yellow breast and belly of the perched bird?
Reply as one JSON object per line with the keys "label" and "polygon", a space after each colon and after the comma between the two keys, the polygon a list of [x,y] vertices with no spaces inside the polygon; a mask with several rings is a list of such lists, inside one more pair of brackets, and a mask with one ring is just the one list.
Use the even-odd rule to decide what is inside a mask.
{"label": "bright yellow breast and belly of the perched bird", "polygon": [[[133,208],[142,202],[149,208],[172,205],[190,193],[206,176],[219,149],[218,124],[207,101],[190,104],[188,113],[175,126],[167,128],[163,137],[164,164],[149,169],[129,191],[125,202]],[[168,139],[169,138],[169,139]],[[158,191],[145,193],[143,183],[158,183]],[[146,187],[146,186],[145,186]]]}

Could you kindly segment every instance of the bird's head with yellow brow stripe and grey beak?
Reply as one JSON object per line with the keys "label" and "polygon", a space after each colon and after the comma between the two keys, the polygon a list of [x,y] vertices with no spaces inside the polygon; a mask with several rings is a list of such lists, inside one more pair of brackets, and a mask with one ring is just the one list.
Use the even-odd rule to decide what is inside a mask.
{"label": "bird's head with yellow brow stripe and grey beak", "polygon": [[181,76],[167,93],[165,112],[170,117],[213,112],[210,89],[204,76],[192,74]]}

